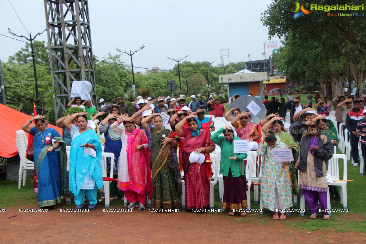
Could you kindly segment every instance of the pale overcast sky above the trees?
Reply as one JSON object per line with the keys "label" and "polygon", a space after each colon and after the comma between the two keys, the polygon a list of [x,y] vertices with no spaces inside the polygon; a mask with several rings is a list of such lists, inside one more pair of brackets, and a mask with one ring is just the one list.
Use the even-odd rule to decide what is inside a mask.
{"label": "pale overcast sky above the trees", "polygon": [[[44,1],[10,0],[32,35],[46,27]],[[26,30],[9,0],[0,1],[0,33],[10,28],[18,35]],[[184,57],[187,61],[221,63],[220,50],[229,49],[230,62],[264,59],[263,43],[268,42],[268,29],[261,13],[270,0],[157,0],[97,1],[89,0],[89,16],[93,54],[99,59],[108,53],[117,54],[116,47],[133,55],[134,66],[171,69],[175,61],[167,57]],[[24,40],[24,39],[23,39]],[[47,33],[37,37],[47,43]],[[277,39],[274,39],[277,40]],[[0,58],[5,62],[25,44],[0,35]],[[227,54],[227,50],[224,51]],[[268,55],[267,55],[268,58]],[[131,64],[130,56],[121,60]],[[224,57],[224,62],[228,58]],[[142,69],[136,71],[145,72]]]}

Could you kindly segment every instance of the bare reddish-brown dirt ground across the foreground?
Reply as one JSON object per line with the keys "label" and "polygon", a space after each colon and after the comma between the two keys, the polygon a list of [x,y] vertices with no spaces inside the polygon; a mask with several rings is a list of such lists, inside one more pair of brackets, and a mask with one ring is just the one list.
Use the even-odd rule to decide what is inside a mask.
{"label": "bare reddish-brown dirt ground across the foreground", "polygon": [[[62,204],[61,209],[72,206]],[[285,221],[272,220],[268,214],[257,221],[239,214],[229,217],[227,211],[150,213],[146,208],[132,213],[103,213],[103,209],[101,203],[90,213],[60,213],[59,209],[19,213],[19,207],[9,207],[0,212],[0,243],[365,243],[360,233],[317,230],[308,234],[289,229],[285,221],[298,221],[295,214]],[[268,220],[263,221],[265,217]]]}

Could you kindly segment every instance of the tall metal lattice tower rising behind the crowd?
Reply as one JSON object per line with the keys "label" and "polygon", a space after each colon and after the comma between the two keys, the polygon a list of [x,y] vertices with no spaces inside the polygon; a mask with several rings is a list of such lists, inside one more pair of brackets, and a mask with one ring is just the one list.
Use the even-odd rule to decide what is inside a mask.
{"label": "tall metal lattice tower rising behind the crowd", "polygon": [[71,101],[72,81],[87,80],[97,105],[88,0],[44,0],[55,119]]}

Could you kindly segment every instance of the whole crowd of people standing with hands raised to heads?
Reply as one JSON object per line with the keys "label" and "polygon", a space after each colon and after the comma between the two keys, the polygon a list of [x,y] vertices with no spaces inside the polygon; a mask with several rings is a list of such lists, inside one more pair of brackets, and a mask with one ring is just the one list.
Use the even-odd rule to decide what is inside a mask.
{"label": "whole crowd of people standing with hands raised to heads", "polygon": [[[238,97],[236,94],[233,99]],[[104,152],[115,155],[113,162],[110,158],[107,161],[107,173],[113,172],[116,179],[110,187],[111,201],[126,198],[128,209],[145,210],[147,196],[152,209],[179,209],[183,179],[186,210],[209,209],[213,176],[210,153],[220,147],[222,208],[234,215],[235,210],[247,209],[250,200],[246,195],[250,190],[245,172],[247,153],[234,153],[234,140],[249,140],[249,150],[260,156],[261,201],[274,212],[273,219],[286,219],[285,209],[293,206],[294,194],[305,196],[313,219],[318,201],[321,209],[326,209],[328,190],[333,200],[339,199],[337,188],[328,189],[326,183],[328,160],[339,143],[335,125],[327,119],[332,108],[326,96],[318,97],[317,110],[310,102],[305,108],[298,98],[287,102],[281,98],[279,102],[265,96],[263,104],[268,112],[259,124],[251,121],[253,115],[249,110],[232,108],[225,112],[220,99],[212,95],[206,101],[203,97],[197,101],[195,95],[191,98],[187,104],[184,95],[177,99],[139,96],[133,102],[133,111],[121,97],[110,104],[100,99],[97,111],[90,100],[81,102],[76,97],[68,106],[77,106],[84,112],[56,121],[63,128],[62,137],[46,126],[44,116],[27,121],[22,129],[34,136],[38,206],[59,207],[61,196],[72,193],[76,209],[82,209],[86,195],[87,208],[93,210],[98,203],[97,189],[102,187],[103,146]],[[337,123],[350,132],[355,165],[359,159],[358,143],[352,143],[354,137],[361,136],[362,152],[366,153],[366,110],[360,109],[360,101],[352,94],[341,94],[332,100]],[[287,110],[289,131],[284,129]],[[207,113],[225,118],[227,123],[215,128],[212,117],[205,116]],[[68,172],[66,146],[71,148]],[[273,152],[280,149],[291,149],[294,161],[276,162]],[[103,199],[101,196],[99,201]],[[245,216],[246,212],[240,215]],[[329,219],[329,214],[324,212],[323,218]]]}

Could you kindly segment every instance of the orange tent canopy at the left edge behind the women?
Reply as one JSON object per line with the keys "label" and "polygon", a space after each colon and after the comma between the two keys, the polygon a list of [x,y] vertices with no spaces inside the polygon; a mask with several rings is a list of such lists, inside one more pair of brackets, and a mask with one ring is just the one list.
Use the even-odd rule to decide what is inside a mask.
{"label": "orange tent canopy at the left edge behind the women", "polygon": [[[0,104],[0,118],[2,120],[2,125],[0,126],[0,157],[10,158],[18,154],[15,143],[15,131],[21,130],[22,125],[29,120],[31,116]],[[62,135],[61,128],[51,124],[49,127],[56,129],[56,131]]]}

